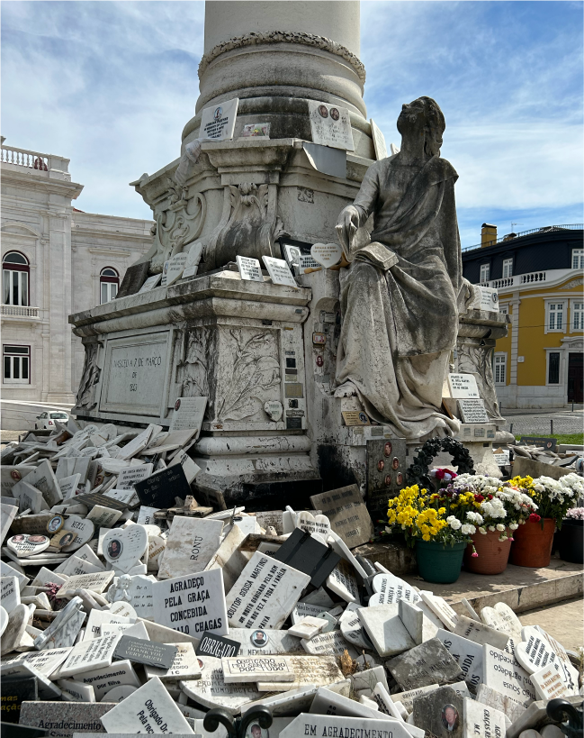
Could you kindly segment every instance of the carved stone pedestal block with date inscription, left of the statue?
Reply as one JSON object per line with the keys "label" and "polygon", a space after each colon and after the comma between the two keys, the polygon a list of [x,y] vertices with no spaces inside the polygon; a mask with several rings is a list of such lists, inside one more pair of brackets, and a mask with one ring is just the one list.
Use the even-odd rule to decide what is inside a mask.
{"label": "carved stone pedestal block with date inscription, left of the statue", "polygon": [[170,423],[179,396],[207,396],[196,486],[220,502],[282,506],[321,488],[310,460],[302,323],[309,289],[244,282],[237,271],[122,297],[71,317],[85,344],[73,413]]}

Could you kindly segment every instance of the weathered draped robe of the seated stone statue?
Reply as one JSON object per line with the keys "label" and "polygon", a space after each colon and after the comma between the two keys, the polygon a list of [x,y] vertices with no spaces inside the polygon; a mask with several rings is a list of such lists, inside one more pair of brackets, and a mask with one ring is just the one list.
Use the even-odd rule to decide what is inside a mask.
{"label": "weathered draped robe of the seated stone statue", "polygon": [[393,159],[367,170],[355,207],[359,225],[373,213],[371,240],[398,262],[385,272],[360,260],[341,269],[337,383],[350,380],[368,415],[400,436],[452,434],[459,424],[440,406],[463,285],[457,174],[432,157],[396,198]]}

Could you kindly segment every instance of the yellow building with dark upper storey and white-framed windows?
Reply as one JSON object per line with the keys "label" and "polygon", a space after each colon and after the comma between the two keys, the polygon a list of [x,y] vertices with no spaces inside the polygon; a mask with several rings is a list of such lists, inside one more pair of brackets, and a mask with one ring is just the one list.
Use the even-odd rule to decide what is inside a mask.
{"label": "yellow building with dark upper storey and white-framed windows", "polygon": [[498,239],[497,227],[483,223],[482,244],[463,251],[464,277],[497,288],[499,310],[511,316],[493,351],[503,408],[583,401],[582,235],[578,223]]}

